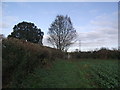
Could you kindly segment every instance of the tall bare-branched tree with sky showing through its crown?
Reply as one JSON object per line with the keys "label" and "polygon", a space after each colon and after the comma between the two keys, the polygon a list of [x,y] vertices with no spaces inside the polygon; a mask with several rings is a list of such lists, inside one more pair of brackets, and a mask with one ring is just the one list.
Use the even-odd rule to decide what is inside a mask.
{"label": "tall bare-branched tree with sky showing through its crown", "polygon": [[73,28],[70,17],[67,15],[58,15],[51,24],[48,34],[48,42],[55,48],[65,51],[73,44],[73,40],[76,37],[76,30]]}

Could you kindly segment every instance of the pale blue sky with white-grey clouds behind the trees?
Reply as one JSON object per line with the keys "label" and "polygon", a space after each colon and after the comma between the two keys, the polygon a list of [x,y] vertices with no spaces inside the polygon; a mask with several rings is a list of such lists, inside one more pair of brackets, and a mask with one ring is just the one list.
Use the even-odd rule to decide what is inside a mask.
{"label": "pale blue sky with white-grey clouds behind the trees", "polygon": [[[47,32],[56,15],[68,15],[81,40],[81,50],[118,47],[117,2],[2,2],[2,33],[7,36],[14,25],[33,22],[44,32],[43,44],[50,46]],[[79,49],[78,41],[69,49]]]}

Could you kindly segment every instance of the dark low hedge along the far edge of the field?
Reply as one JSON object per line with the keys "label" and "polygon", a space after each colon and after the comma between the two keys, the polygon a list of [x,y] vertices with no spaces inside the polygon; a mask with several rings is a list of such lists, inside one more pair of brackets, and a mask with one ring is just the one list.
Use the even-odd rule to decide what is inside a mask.
{"label": "dark low hedge along the far edge of the field", "polygon": [[95,51],[71,52],[71,58],[75,59],[120,59],[120,51],[117,49],[110,50],[101,48]]}

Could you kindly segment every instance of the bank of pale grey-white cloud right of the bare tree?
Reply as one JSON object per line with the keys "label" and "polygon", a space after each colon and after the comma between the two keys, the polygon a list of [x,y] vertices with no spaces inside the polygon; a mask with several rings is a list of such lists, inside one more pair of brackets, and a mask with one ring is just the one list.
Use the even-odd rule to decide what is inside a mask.
{"label": "bank of pale grey-white cloud right of the bare tree", "polygon": [[[89,23],[89,28],[79,28],[79,38],[82,48],[116,47],[118,45],[117,13],[103,14],[95,17]],[[87,27],[87,26],[86,26]],[[94,28],[93,28],[94,27]],[[84,31],[89,29],[89,31]],[[75,44],[78,46],[78,43]]]}

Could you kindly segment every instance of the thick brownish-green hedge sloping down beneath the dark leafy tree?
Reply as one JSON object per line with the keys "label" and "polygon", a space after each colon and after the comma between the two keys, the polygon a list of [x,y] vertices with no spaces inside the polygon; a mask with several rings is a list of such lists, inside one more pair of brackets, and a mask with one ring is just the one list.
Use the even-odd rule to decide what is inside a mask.
{"label": "thick brownish-green hedge sloping down beneath the dark leafy tree", "polygon": [[18,86],[38,66],[62,57],[62,52],[56,49],[15,38],[3,39],[3,87],[7,87],[7,84]]}

